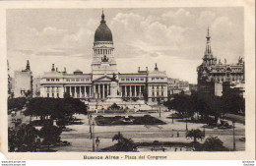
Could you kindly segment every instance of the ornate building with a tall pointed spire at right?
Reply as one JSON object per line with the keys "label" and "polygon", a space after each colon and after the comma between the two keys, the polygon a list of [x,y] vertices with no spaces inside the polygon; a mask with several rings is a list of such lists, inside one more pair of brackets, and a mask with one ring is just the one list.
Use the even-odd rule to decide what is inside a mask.
{"label": "ornate building with a tall pointed spire at right", "polygon": [[[217,57],[213,56],[209,28],[206,38],[203,63],[197,68],[199,93],[222,96],[226,84],[232,84],[232,86],[237,84],[244,87],[244,85],[241,85],[244,84],[243,59],[239,58],[235,64],[226,64],[226,60],[224,60],[224,63],[221,60],[218,61]],[[244,91],[244,88],[242,91]]]}

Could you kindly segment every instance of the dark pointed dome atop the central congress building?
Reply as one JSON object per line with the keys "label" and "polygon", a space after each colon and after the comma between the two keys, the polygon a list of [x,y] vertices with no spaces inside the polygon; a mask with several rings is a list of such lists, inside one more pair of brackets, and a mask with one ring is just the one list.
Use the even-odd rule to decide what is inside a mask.
{"label": "dark pointed dome atop the central congress building", "polygon": [[112,32],[105,24],[104,14],[102,13],[100,25],[96,28],[95,42],[96,41],[113,41]]}

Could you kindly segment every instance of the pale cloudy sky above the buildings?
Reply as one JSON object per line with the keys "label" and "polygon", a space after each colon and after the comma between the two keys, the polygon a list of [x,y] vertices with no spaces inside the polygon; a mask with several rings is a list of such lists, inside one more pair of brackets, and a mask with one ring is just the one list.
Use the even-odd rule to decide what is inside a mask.
{"label": "pale cloudy sky above the buildings", "polygon": [[[93,43],[102,9],[7,10],[7,58],[11,75],[30,60],[34,77],[55,64],[68,73],[91,73]],[[138,67],[170,78],[197,83],[210,28],[214,56],[227,63],[244,57],[243,8],[104,9],[111,29],[117,69],[136,73]]]}

